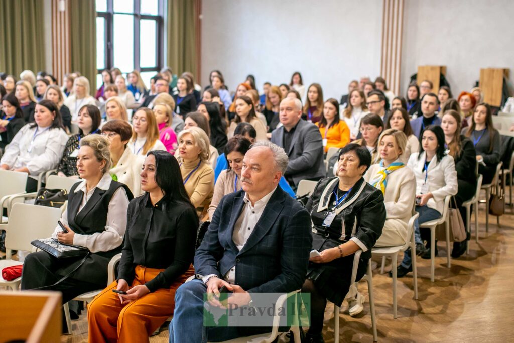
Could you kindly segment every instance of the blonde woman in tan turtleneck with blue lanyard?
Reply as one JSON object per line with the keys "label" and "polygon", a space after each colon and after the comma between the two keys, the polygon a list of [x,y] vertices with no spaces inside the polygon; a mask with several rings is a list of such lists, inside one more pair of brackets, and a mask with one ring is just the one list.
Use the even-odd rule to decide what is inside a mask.
{"label": "blonde woman in tan turtleneck with blue lanyard", "polygon": [[209,165],[209,137],[196,127],[178,134],[178,163],[186,192],[201,221],[209,218],[214,193],[214,170]]}

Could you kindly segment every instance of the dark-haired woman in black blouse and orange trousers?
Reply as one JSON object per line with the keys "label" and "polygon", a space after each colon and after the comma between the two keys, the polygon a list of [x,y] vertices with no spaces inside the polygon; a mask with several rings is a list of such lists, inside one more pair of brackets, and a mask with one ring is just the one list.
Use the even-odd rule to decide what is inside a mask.
{"label": "dark-haired woman in black blouse and orange trousers", "polygon": [[149,152],[141,189],[145,193],[128,206],[118,280],[89,304],[92,342],[148,341],[173,314],[175,290],[194,274],[199,221],[175,157],[167,151]]}

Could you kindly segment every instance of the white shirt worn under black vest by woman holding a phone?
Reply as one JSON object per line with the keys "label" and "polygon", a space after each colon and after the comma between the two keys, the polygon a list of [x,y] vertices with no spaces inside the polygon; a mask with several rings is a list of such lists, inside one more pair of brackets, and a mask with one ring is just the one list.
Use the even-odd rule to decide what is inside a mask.
{"label": "white shirt worn under black vest by woman holding a phone", "polygon": [[[109,175],[108,172],[105,173],[100,179],[98,185],[96,185],[96,187],[91,189],[89,192],[86,189],[86,180],[83,180],[75,189],[75,193],[79,191],[84,192],[82,202],[80,203],[79,212],[82,211],[84,206],[86,206],[87,202],[91,198],[91,195],[93,195],[95,192],[95,189],[100,188],[105,191],[108,190],[109,187],[111,187],[112,180],[113,179],[111,178],[111,175]],[[109,202],[105,231],[95,232],[93,234],[81,234],[75,232],[73,244],[84,246],[91,252],[108,251],[120,246],[123,241],[123,235],[125,234],[127,225],[127,209],[128,197],[125,189],[121,187],[114,193],[113,197],[111,198],[111,202]],[[68,208],[64,210],[64,213],[61,216],[61,223],[63,223],[64,226],[69,226]],[[52,237],[57,238],[57,232],[59,231],[62,231],[62,229],[58,225],[53,231]]]}

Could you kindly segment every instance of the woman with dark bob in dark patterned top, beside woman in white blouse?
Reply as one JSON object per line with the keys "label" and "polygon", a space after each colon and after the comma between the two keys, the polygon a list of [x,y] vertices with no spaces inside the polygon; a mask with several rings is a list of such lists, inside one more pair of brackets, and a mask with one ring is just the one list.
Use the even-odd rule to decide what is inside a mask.
{"label": "woman with dark bob in dark patterned top, beside woman in white blouse", "polygon": [[79,170],[77,169],[77,156],[79,154],[80,140],[89,134],[100,133],[100,122],[100,111],[97,106],[82,106],[82,109],[79,111],[79,116],[77,117],[79,133],[71,135],[68,138],[61,161],[57,167],[57,175],[79,176]]}

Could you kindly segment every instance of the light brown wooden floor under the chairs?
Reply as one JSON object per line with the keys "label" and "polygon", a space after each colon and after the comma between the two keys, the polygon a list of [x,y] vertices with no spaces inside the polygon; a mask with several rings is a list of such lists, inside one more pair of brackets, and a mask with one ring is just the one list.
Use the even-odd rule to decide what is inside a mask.
{"label": "light brown wooden floor under the chairs", "polygon": [[[514,342],[514,216],[507,209],[501,227],[492,217],[486,237],[483,207],[480,213],[480,243],[476,244],[473,234],[469,256],[452,259],[447,268],[445,244],[438,244],[435,282],[430,282],[430,260],[418,258],[417,301],[412,276],[398,279],[398,319],[392,315],[391,279],[379,274],[379,268],[374,270],[380,342]],[[373,341],[366,284],[360,283],[359,290],[366,295],[364,312],[352,318],[343,304],[345,312],[339,316],[342,342]],[[62,342],[87,340],[85,317],[73,322],[74,335],[62,336]],[[332,304],[325,312],[324,337],[326,342],[334,341]],[[167,326],[150,341],[168,342]]]}

